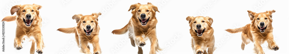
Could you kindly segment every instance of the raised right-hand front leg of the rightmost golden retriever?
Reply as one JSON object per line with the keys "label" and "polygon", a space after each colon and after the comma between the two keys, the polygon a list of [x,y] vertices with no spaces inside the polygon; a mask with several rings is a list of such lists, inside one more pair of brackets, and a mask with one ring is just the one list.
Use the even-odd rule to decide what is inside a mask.
{"label": "raised right-hand front leg of the rightmost golden retriever", "polygon": [[267,35],[267,42],[269,49],[277,51],[279,49],[278,45],[276,44],[275,40],[273,39],[273,32],[269,32]]}

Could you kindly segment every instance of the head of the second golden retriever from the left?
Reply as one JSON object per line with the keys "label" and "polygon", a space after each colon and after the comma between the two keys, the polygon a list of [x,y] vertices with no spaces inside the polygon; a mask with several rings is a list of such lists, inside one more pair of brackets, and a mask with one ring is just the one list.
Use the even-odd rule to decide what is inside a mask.
{"label": "head of the second golden retriever from the left", "polygon": [[90,34],[93,32],[93,29],[97,29],[99,15],[101,15],[101,13],[92,13],[91,15],[85,16],[82,14],[75,14],[72,16],[72,19],[76,20],[77,29],[83,31],[79,33],[85,33],[86,36],[90,36]]}

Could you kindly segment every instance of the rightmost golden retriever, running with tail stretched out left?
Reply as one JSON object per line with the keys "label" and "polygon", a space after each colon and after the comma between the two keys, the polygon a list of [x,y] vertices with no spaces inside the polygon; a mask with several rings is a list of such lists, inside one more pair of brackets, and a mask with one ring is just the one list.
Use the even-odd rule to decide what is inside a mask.
{"label": "rightmost golden retriever, running with tail stretched out left", "polygon": [[245,44],[247,45],[250,41],[253,41],[254,49],[257,54],[265,54],[261,47],[261,44],[265,41],[268,42],[269,49],[278,50],[279,47],[273,39],[272,27],[272,13],[275,13],[275,10],[266,11],[264,13],[255,13],[249,10],[248,12],[249,17],[252,20],[251,24],[247,24],[241,28],[227,29],[226,31],[230,33],[242,32],[242,50],[244,50]]}

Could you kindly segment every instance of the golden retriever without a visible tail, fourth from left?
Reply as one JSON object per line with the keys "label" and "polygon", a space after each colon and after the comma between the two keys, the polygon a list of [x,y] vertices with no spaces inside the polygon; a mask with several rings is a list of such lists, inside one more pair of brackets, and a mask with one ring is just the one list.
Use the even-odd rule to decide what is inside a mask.
{"label": "golden retriever without a visible tail, fourth from left", "polygon": [[[211,27],[213,19],[203,16],[188,16],[192,36],[192,48],[196,54],[213,54],[215,45],[214,29]],[[208,48],[208,53],[206,49]]]}

